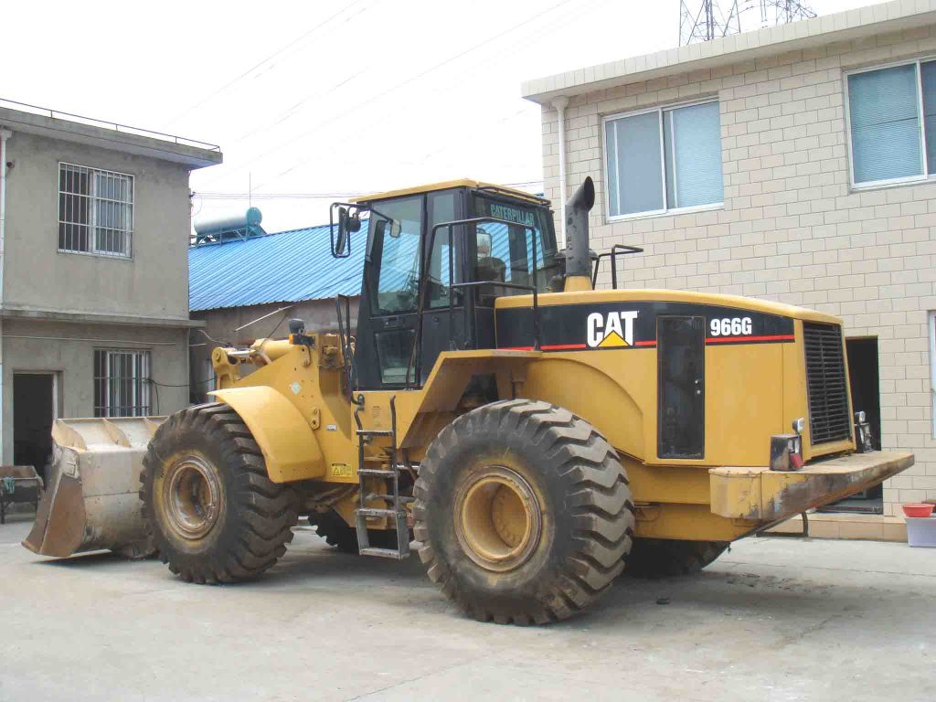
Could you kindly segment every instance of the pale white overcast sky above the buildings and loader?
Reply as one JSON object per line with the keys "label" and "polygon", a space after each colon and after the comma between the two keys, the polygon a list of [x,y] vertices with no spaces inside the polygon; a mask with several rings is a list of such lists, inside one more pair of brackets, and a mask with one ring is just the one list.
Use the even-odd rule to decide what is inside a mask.
{"label": "pale white overcast sky above the buildings and loader", "polygon": [[[701,0],[687,0],[698,5]],[[727,6],[729,0],[722,0]],[[745,0],[759,7],[759,0]],[[819,14],[868,0],[812,0]],[[470,177],[542,177],[521,80],[679,43],[679,0],[188,0],[4,7],[0,97],[219,144],[197,215],[268,231],[336,197]],[[754,8],[742,28],[756,28]],[[285,195],[312,197],[283,197]]]}

